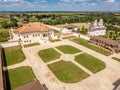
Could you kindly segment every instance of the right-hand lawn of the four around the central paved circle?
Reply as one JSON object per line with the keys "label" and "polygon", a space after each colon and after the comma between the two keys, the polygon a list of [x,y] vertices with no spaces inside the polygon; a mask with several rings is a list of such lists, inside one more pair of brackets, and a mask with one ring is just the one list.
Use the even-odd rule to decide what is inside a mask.
{"label": "right-hand lawn of the four around the central paved circle", "polygon": [[79,64],[83,65],[93,73],[96,73],[105,68],[104,62],[87,53],[75,56],[75,61],[77,61]]}

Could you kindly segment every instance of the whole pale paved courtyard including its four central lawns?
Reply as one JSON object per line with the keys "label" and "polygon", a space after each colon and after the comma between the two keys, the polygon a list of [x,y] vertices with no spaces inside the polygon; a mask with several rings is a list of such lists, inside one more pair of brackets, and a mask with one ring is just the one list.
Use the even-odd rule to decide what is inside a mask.
{"label": "whole pale paved courtyard including its four central lawns", "polygon": [[[69,48],[61,49],[61,46],[66,45],[72,46],[72,49],[77,49],[77,51],[73,50],[74,52],[69,53]],[[56,47],[60,47],[60,49]],[[43,58],[38,55],[40,51],[49,51],[49,49],[52,49],[49,53],[47,51],[42,52]],[[112,83],[119,78],[120,74],[120,63],[113,60],[111,56],[102,55],[68,39],[49,43],[49,45],[23,48],[23,52],[26,59],[21,63],[8,66],[8,70],[29,66],[32,68],[35,77],[41,83],[45,83],[49,90],[112,90],[114,88]],[[57,58],[51,52],[57,54]],[[45,53],[48,54],[47,59],[44,56]],[[84,53],[89,54],[89,56],[84,56]],[[76,61],[75,57],[77,56],[80,58],[84,56],[84,58]],[[88,60],[87,57],[91,59]],[[97,65],[88,67],[84,60],[90,64],[95,62]],[[95,68],[97,70],[94,70]],[[108,73],[110,74],[108,75]]]}

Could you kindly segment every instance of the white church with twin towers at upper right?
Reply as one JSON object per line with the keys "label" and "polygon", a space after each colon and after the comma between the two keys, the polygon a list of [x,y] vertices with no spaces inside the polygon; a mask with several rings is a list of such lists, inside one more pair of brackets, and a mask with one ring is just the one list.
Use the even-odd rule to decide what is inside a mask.
{"label": "white church with twin towers at upper right", "polygon": [[88,29],[89,36],[99,36],[106,34],[106,27],[103,25],[103,20],[100,19],[99,21],[95,20],[90,24]]}

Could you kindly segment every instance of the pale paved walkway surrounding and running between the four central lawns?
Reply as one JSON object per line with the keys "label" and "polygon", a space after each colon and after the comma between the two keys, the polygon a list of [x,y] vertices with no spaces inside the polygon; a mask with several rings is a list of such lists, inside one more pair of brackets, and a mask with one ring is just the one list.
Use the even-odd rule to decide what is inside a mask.
{"label": "pale paved walkway surrounding and running between the four central lawns", "polygon": [[[63,83],[59,81],[51,70],[47,67],[47,64],[59,61],[55,60],[49,63],[44,63],[38,56],[39,50],[51,48],[59,45],[72,45],[85,53],[88,53],[98,59],[102,60],[106,64],[106,68],[102,71],[93,74],[83,66],[71,60],[75,65],[79,66],[81,69],[90,74],[90,77],[78,82],[78,83]],[[57,49],[56,49],[57,50]],[[59,50],[57,50],[60,52]],[[63,40],[60,42],[44,44],[40,46],[23,48],[23,52],[26,55],[26,60],[16,65],[9,66],[8,69],[13,69],[19,66],[30,66],[35,73],[36,78],[41,82],[45,83],[49,90],[112,90],[114,88],[113,84],[117,79],[120,78],[120,63],[112,60],[111,57],[104,56],[86,47],[78,45],[69,40]],[[60,52],[63,54],[62,52]],[[82,53],[82,52],[81,52]],[[78,53],[79,54],[79,53]],[[75,55],[78,55],[75,54]],[[119,55],[118,55],[119,56]]]}

